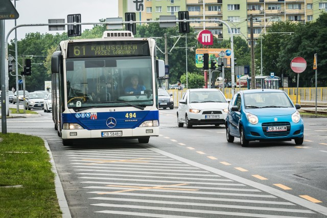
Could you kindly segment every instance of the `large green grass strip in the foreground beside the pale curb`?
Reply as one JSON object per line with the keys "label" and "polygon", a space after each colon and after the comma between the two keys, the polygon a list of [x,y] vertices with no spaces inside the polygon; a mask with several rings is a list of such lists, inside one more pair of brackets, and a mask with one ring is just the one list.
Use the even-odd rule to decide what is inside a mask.
{"label": "large green grass strip in the foreground beside the pale curb", "polygon": [[0,133],[0,217],[61,217],[44,141]]}

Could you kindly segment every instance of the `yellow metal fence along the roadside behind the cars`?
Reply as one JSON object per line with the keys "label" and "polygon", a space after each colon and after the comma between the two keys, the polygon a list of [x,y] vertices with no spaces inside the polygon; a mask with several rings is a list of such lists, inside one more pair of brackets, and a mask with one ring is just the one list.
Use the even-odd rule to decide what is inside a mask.
{"label": "yellow metal fence along the roadside behind the cars", "polygon": [[[245,90],[247,88],[235,88],[235,92],[239,90]],[[167,90],[170,94],[173,94],[174,105],[175,107],[178,106],[179,100],[182,99],[183,94],[186,89],[184,90],[177,90],[171,89]],[[292,102],[296,103],[296,95],[297,95],[297,88],[284,88],[283,89],[289,96]],[[232,98],[232,89],[225,88],[225,97],[226,99]],[[315,102],[316,101],[316,88],[298,88],[298,104],[308,103],[308,102]],[[327,104],[327,87],[319,87],[317,88],[317,102]]]}

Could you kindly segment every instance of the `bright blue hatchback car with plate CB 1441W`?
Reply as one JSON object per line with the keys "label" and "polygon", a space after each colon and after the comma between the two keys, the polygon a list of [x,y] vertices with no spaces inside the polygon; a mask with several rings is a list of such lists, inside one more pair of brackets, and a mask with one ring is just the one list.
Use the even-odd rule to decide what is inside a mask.
{"label": "bright blue hatchback car with plate CB 1441W", "polygon": [[303,143],[303,120],[289,96],[277,89],[249,89],[235,93],[226,117],[226,138],[249,141],[290,141]]}

